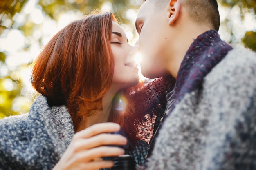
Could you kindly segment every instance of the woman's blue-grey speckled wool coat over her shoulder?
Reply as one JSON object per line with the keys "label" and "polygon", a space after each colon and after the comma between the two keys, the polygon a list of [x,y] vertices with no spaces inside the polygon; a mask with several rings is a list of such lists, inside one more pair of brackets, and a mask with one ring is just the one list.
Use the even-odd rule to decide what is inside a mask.
{"label": "woman's blue-grey speckled wool coat over her shoulder", "polygon": [[[49,107],[40,95],[29,113],[0,120],[0,170],[51,170],[74,136],[66,106]],[[145,161],[148,143],[137,141],[126,154]]]}

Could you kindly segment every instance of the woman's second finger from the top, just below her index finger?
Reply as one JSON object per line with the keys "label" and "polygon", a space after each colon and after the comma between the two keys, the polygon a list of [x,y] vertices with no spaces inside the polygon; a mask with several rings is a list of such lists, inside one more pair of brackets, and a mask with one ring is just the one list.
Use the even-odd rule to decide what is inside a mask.
{"label": "woman's second finger from the top, just below her index finger", "polygon": [[122,135],[114,134],[99,134],[88,139],[79,139],[74,142],[74,152],[79,152],[80,150],[88,150],[98,146],[109,146],[109,145],[120,145],[124,146],[127,143],[126,137]]}

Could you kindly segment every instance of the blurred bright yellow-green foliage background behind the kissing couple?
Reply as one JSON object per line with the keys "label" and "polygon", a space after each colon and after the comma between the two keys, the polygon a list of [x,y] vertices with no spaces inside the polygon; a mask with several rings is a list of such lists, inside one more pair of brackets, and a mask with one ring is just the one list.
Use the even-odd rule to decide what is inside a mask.
{"label": "blurred bright yellow-green foliage background behind the kissing couple", "polygon": [[[218,0],[220,36],[234,47],[256,51],[256,0]],[[49,39],[95,9],[112,11],[130,44],[138,35],[141,0],[0,0],[0,119],[27,113],[36,92],[30,65]]]}

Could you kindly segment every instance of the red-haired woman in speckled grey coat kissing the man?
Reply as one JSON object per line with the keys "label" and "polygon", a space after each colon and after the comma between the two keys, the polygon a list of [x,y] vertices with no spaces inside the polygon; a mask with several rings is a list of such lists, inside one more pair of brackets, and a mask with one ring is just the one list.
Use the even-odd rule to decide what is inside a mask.
{"label": "red-haired woman in speckled grey coat kissing the man", "polygon": [[[41,95],[28,114],[0,120],[0,167],[109,168],[113,162],[101,157],[124,153],[143,163],[148,144],[137,137],[135,106],[128,98],[138,86],[127,89],[139,82],[134,53],[110,12],[88,15],[54,35],[31,75]],[[104,122],[119,124],[127,138],[108,134],[120,126]],[[112,140],[117,138],[118,143]]]}

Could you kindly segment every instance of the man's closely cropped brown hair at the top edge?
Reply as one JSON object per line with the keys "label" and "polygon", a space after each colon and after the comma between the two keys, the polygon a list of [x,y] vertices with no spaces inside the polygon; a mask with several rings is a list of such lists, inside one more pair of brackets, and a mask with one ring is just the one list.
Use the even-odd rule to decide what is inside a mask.
{"label": "man's closely cropped brown hair at the top edge", "polygon": [[[163,7],[170,0],[150,0],[156,7]],[[216,31],[220,27],[220,14],[217,0],[180,0],[182,6],[189,11],[191,20],[196,23],[209,23]]]}

